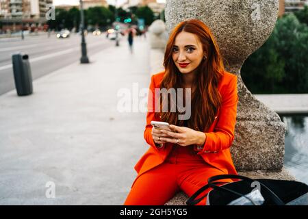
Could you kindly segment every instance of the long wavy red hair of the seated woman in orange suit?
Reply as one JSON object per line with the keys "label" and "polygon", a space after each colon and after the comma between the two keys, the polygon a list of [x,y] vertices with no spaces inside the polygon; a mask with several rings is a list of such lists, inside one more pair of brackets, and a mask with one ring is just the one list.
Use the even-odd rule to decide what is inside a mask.
{"label": "long wavy red hair of the seated woman in orange suit", "polygon": [[[196,34],[203,46],[203,52],[207,55],[207,60],[202,60],[196,69],[194,77],[195,92],[191,99],[191,116],[184,123],[184,120],[179,120],[179,112],[170,112],[170,100],[168,103],[160,103],[160,112],[156,116],[161,116],[161,120],[173,125],[187,126],[196,131],[207,130],[211,123],[214,122],[214,116],[221,105],[221,96],[218,92],[218,82],[224,71],[222,56],[218,48],[218,44],[211,34],[207,25],[202,21],[192,19],[179,23],[172,30],[169,40],[166,44],[164,55],[165,74],[160,84],[160,89],[166,88],[183,88],[182,73],[179,71],[175,62],[172,60],[172,48],[175,44],[175,38],[181,32]],[[185,93],[185,92],[184,92]],[[160,96],[162,100],[162,95]],[[183,100],[185,103],[185,100]],[[163,105],[168,104],[168,112],[162,112]]]}

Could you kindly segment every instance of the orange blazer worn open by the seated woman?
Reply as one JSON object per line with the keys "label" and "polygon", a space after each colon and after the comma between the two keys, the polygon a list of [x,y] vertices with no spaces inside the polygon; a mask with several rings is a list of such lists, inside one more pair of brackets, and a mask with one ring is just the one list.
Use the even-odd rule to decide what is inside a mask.
{"label": "orange blazer worn open by the seated woman", "polygon": [[[151,77],[149,92],[152,92],[153,95],[149,95],[148,112],[146,114],[146,127],[144,130],[144,139],[150,147],[134,167],[138,172],[136,179],[138,179],[138,177],[144,172],[159,164],[162,164],[172,149],[172,143],[166,143],[162,148],[157,148],[151,134],[151,120],[160,121],[160,118],[155,116],[155,110],[153,110],[153,98],[155,96],[154,89],[159,88],[163,77],[164,72],[157,73]],[[214,123],[211,124],[209,129],[204,130],[206,140],[203,147],[201,147],[201,149],[197,149],[196,146],[194,146],[194,150],[198,151],[198,154],[203,157],[207,164],[222,170],[225,174],[235,175],[238,173],[235,170],[229,148],[234,139],[238,105],[237,83],[238,77],[236,75],[224,72],[220,82],[218,83],[218,90],[222,96],[222,105],[218,109]],[[151,105],[150,103],[153,104]]]}

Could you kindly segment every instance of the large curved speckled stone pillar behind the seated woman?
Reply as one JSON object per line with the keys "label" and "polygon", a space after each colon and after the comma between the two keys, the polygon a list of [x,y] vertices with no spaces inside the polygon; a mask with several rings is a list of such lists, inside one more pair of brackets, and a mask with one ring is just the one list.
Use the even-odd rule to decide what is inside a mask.
{"label": "large curved speckled stone pillar behind the seated woman", "polygon": [[277,113],[255,99],[240,75],[246,58],[272,33],[278,9],[278,0],[166,1],[168,32],[180,21],[203,21],[218,41],[226,70],[238,75],[238,115],[231,146],[237,170],[279,171],[283,167],[285,125]]}

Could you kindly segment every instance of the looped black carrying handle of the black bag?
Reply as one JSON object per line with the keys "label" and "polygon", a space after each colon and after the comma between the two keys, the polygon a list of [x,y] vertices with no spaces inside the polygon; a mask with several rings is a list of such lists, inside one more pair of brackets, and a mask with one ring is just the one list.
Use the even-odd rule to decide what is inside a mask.
{"label": "looped black carrying handle of the black bag", "polygon": [[[248,177],[244,177],[244,176],[240,176],[240,175],[216,175],[214,177],[210,177],[209,179],[207,179],[207,183],[211,188],[217,189],[217,190],[224,190],[224,191],[228,191],[231,192],[233,194],[238,194],[240,195],[238,192],[235,192],[233,190],[229,190],[227,188],[224,187],[220,187],[218,185],[216,185],[216,183],[214,181],[220,180],[220,179],[242,179],[242,180],[246,180],[246,181],[250,181],[253,182],[255,181],[254,179],[248,178]],[[271,200],[276,204],[276,205],[285,205],[285,203],[283,203],[283,201],[281,201],[281,199],[277,196],[277,194],[274,194],[274,192],[272,192],[272,190],[270,190],[266,185],[264,185],[264,183],[261,183],[260,181],[257,181],[258,183],[260,183],[261,188],[264,189],[264,191],[266,191],[266,194],[268,194],[268,196],[271,198]],[[248,198],[246,195],[242,195],[245,198]],[[254,205],[255,203],[251,200],[251,198],[248,198]]]}

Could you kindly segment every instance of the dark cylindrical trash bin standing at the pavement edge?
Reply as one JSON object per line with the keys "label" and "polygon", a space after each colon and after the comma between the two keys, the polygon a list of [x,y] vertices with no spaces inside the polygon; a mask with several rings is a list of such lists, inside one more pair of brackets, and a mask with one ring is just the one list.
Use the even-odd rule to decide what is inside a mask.
{"label": "dark cylindrical trash bin standing at the pavement edge", "polygon": [[18,96],[32,93],[32,76],[29,63],[29,55],[15,53],[12,55],[15,87]]}

